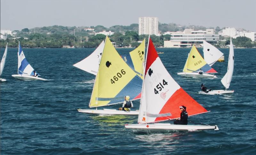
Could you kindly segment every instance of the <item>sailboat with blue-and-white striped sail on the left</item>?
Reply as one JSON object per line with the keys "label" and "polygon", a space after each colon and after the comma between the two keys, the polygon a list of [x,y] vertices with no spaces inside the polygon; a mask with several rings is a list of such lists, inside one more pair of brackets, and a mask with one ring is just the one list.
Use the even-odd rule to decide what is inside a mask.
{"label": "sailboat with blue-and-white striped sail on the left", "polygon": [[12,77],[20,80],[46,80],[44,78],[39,78],[35,76],[37,74],[40,76],[33,67],[28,63],[19,41],[19,50],[18,50],[18,74],[12,75]]}

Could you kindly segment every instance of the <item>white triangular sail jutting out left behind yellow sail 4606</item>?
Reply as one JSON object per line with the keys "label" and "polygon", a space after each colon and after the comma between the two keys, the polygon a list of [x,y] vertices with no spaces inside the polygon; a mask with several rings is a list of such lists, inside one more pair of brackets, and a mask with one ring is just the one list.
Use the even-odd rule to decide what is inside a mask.
{"label": "white triangular sail jutting out left behind yellow sail 4606", "polygon": [[91,74],[97,75],[103,48],[104,41],[100,43],[100,45],[92,52],[91,55],[89,55],[82,61],[74,64],[73,66],[81,70],[87,71]]}

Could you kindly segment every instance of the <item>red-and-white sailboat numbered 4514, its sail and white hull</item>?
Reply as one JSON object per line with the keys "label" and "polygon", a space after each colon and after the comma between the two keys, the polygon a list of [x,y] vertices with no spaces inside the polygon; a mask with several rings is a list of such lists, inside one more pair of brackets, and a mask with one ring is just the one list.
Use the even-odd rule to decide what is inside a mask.
{"label": "red-and-white sailboat numbered 4514, its sail and white hull", "polygon": [[189,96],[172,78],[149,38],[138,124],[126,124],[125,128],[142,132],[218,130],[217,125],[156,123],[179,118],[179,106],[181,105],[187,107],[188,116],[209,112]]}

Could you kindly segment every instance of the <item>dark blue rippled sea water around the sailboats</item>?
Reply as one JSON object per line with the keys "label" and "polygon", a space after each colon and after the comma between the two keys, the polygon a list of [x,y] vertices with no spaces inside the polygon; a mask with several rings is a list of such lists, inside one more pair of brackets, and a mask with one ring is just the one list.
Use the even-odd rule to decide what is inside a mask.
{"label": "dark blue rippled sea water around the sailboats", "polygon": [[[183,78],[189,48],[158,48],[164,66],[197,102],[210,113],[189,121],[218,125],[219,130],[134,133],[124,124],[136,116],[96,116],[77,112],[88,108],[94,75],[72,66],[94,49],[23,48],[28,62],[48,81],[21,81],[17,74],[17,48],[9,48],[1,83],[1,154],[254,154],[256,151],[256,48],[235,48],[230,95],[202,95],[209,89],[225,89],[220,80],[228,65],[229,49],[220,49],[224,62],[213,68],[216,79]],[[132,49],[117,49],[125,54]],[[199,48],[202,54],[202,48]],[[1,49],[2,58],[4,49]],[[111,88],[109,88],[111,91]],[[139,109],[139,101],[134,101]],[[121,105],[113,105],[118,108]]]}

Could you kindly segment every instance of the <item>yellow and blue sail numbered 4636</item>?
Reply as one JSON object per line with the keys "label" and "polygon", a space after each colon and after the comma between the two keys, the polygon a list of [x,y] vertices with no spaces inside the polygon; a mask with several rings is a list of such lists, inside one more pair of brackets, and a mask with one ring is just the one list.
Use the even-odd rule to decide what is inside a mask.
{"label": "yellow and blue sail numbered 4636", "polygon": [[204,72],[211,70],[212,68],[204,61],[195,45],[189,52],[188,59],[184,66],[183,72],[197,72],[202,69]]}

